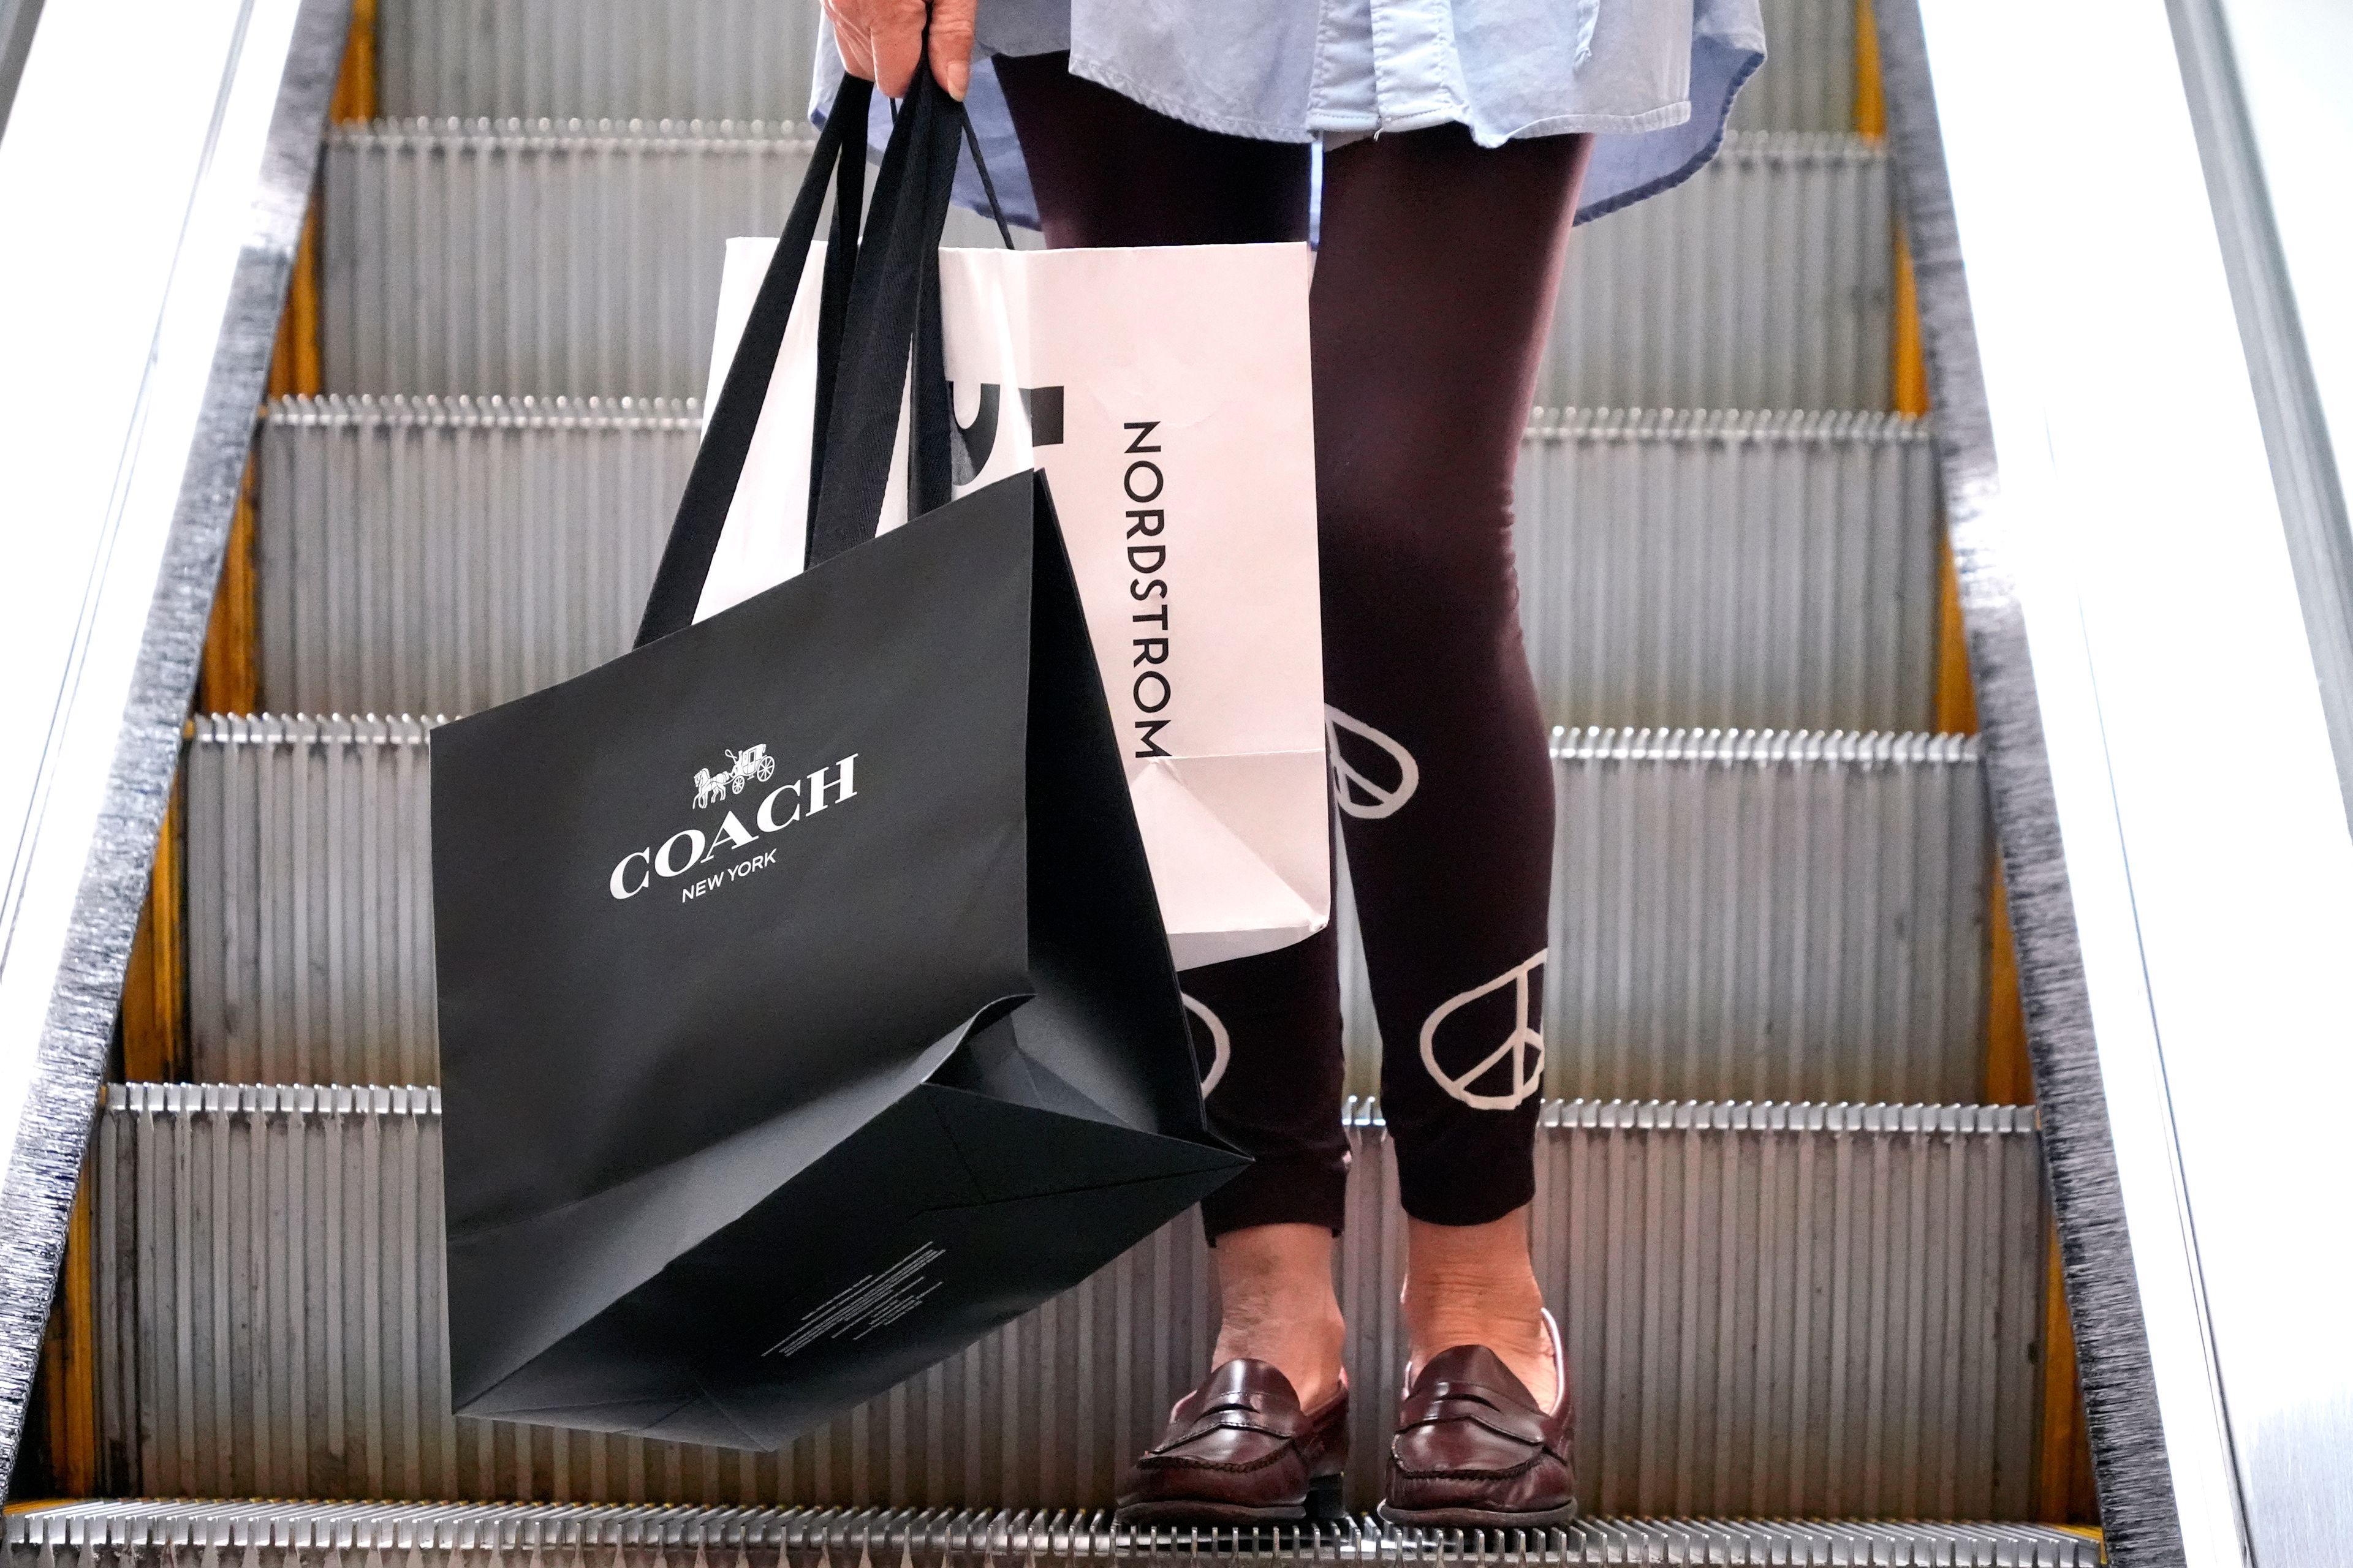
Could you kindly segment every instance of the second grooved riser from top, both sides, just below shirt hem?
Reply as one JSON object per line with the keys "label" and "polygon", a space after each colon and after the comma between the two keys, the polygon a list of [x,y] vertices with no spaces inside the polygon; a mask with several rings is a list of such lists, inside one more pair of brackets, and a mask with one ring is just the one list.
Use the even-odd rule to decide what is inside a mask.
{"label": "second grooved riser from top, both sides, just below shirt hem", "polygon": [[[327,139],[336,393],[704,390],[722,244],[776,233],[802,127],[409,120]],[[1737,134],[1579,228],[1539,404],[1885,409],[1885,148]],[[974,214],[951,244],[995,244]]]}

